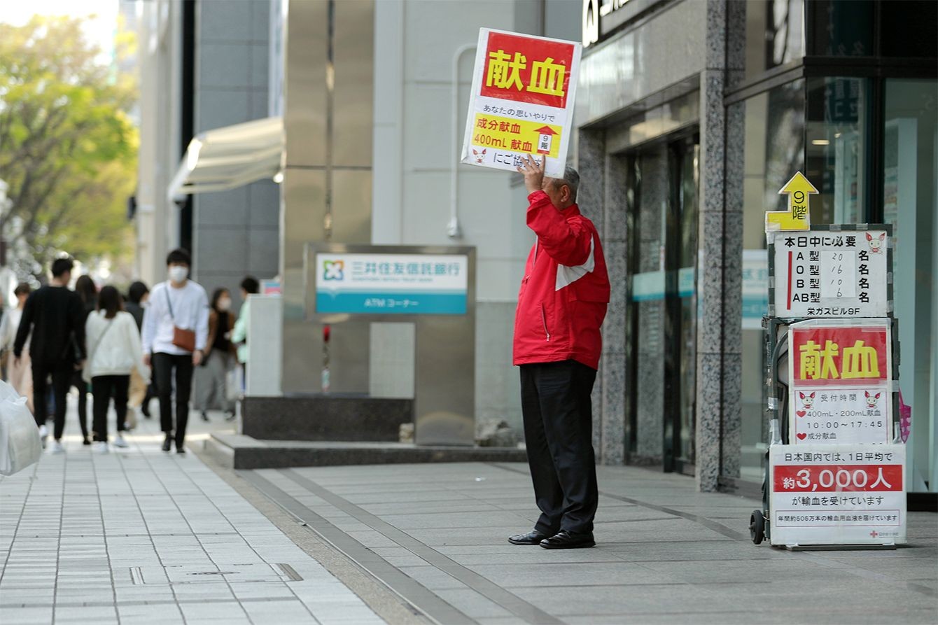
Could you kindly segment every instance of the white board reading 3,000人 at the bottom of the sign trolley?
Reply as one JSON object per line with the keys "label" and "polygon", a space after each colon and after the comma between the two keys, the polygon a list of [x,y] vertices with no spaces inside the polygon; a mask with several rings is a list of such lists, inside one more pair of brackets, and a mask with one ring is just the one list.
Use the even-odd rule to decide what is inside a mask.
{"label": "white board reading 3,000\u4eba at the bottom of the sign trolley", "polygon": [[904,544],[904,466],[904,445],[773,445],[772,544]]}

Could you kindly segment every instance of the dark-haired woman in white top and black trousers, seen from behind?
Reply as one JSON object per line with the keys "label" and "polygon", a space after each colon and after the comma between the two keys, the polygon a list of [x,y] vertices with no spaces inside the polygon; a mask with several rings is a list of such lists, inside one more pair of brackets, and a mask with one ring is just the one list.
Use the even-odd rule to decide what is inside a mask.
{"label": "dark-haired woman in white top and black trousers, seen from behind", "polygon": [[133,315],[124,311],[120,294],[113,286],[105,286],[98,294],[98,311],[88,315],[84,327],[88,345],[88,359],[84,363],[83,379],[91,384],[95,398],[94,426],[95,451],[108,451],[108,407],[113,400],[117,413],[117,435],[114,447],[127,447],[124,440],[127,420],[130,372],[137,371],[149,381],[150,371],[144,367],[144,354],[140,343],[140,330]]}

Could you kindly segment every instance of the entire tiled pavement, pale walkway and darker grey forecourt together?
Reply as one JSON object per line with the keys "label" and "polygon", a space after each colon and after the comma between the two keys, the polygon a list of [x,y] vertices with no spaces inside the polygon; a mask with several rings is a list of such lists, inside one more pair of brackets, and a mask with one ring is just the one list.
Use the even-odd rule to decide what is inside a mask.
{"label": "entire tiled pavement, pale walkway and darker grey forecourt together", "polygon": [[[190,446],[218,427],[194,421]],[[0,480],[2,625],[382,622],[331,557],[409,602],[395,625],[938,622],[931,513],[910,515],[895,551],[791,553],[749,541],[750,499],[600,467],[597,548],[554,552],[505,540],[535,519],[524,465],[235,475],[162,453],[156,430],[143,421],[107,455],[67,437],[68,453]]]}

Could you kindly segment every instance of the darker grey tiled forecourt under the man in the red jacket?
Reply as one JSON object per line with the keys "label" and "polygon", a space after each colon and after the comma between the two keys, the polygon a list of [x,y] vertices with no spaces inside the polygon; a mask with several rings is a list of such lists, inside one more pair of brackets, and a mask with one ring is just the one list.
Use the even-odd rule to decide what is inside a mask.
{"label": "darker grey tiled forecourt under the man in the red jacket", "polygon": [[508,544],[535,521],[524,465],[242,471],[444,623],[938,623],[938,515],[910,546],[788,552],[749,540],[740,496],[600,467],[595,549]]}

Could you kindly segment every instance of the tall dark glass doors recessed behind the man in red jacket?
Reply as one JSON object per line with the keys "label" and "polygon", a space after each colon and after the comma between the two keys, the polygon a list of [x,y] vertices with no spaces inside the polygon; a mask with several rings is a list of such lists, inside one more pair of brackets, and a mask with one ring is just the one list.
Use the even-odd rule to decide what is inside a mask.
{"label": "tall dark glass doors recessed behind the man in red jacket", "polygon": [[629,464],[691,473],[697,341],[698,137],[629,154]]}

